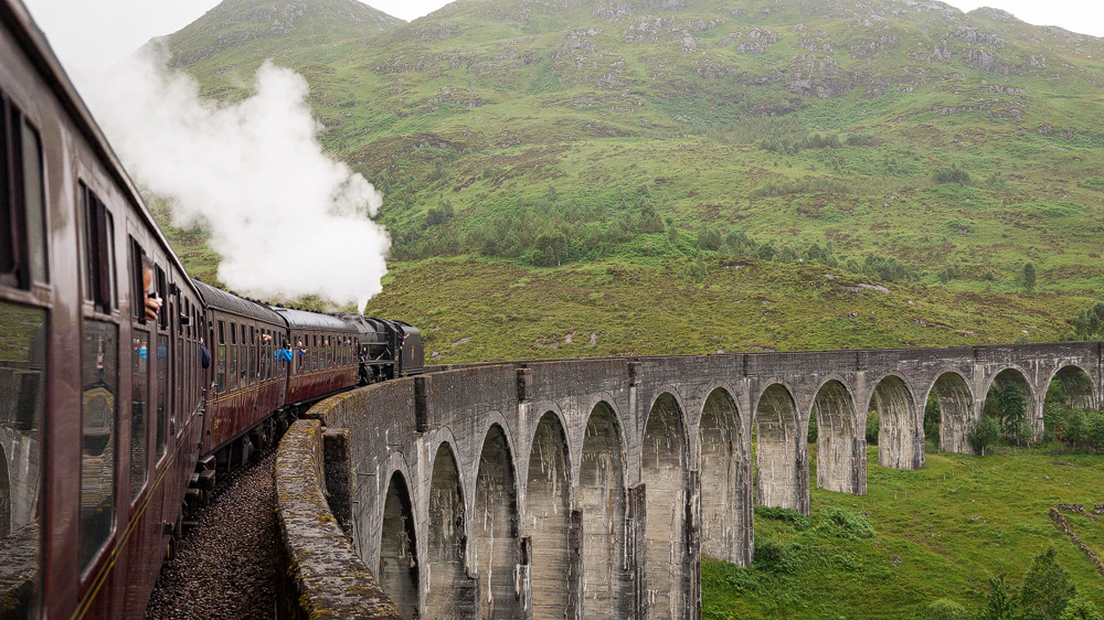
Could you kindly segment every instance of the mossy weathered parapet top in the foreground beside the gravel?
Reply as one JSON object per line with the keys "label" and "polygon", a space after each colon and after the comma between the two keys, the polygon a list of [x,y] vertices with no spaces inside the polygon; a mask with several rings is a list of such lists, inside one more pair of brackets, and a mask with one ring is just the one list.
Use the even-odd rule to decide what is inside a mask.
{"label": "mossy weathered parapet top in the foreground beside the gravel", "polygon": [[326,503],[321,424],[299,420],[276,451],[276,516],[284,582],[278,613],[289,619],[399,619]]}

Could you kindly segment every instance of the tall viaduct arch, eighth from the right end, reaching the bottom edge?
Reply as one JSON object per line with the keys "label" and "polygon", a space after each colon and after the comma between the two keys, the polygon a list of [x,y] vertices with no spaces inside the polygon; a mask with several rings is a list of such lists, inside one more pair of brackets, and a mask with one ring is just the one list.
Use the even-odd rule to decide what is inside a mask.
{"label": "tall viaduct arch, eighth from the right end, reaching the bottom edge", "polygon": [[676,396],[665,392],[648,410],[640,480],[645,484],[645,579],[648,618],[681,618],[687,576],[687,434]]}

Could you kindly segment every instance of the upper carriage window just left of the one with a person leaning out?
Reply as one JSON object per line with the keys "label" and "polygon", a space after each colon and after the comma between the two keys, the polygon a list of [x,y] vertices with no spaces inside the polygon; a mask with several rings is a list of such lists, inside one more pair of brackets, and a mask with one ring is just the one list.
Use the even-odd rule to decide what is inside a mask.
{"label": "upper carriage window just left of the one with a person leaning out", "polygon": [[110,314],[115,303],[115,221],[104,203],[79,183],[84,216],[84,298]]}

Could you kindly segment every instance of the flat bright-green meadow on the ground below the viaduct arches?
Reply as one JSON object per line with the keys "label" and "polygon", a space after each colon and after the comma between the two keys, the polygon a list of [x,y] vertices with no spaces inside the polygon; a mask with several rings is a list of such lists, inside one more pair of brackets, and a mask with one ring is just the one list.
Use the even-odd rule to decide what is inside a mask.
{"label": "flat bright-green meadow on the ground below the viaduct arches", "polygon": [[[1101,457],[930,451],[924,469],[901,471],[879,467],[871,447],[868,463],[866,496],[814,489],[808,520],[757,512],[763,559],[751,568],[704,562],[702,618],[926,618],[940,598],[979,610],[990,577],[1002,571],[1019,588],[1033,556],[1051,545],[1078,590],[1104,608],[1101,576],[1049,517],[1059,503],[1092,511],[1101,502]],[[1068,519],[1104,553],[1104,525]],[[863,523],[873,536],[863,537]]]}

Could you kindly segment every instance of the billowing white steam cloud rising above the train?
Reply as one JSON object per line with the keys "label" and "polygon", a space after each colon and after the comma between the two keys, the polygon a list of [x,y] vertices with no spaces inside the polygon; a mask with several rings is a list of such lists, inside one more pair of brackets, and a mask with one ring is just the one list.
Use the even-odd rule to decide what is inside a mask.
{"label": "billowing white steam cloud rising above the train", "polygon": [[217,106],[147,49],[86,86],[138,182],[171,201],[174,224],[210,231],[230,288],[360,310],[380,291],[391,242],[370,217],[383,197],[322,152],[301,76],[265,63],[252,97]]}

